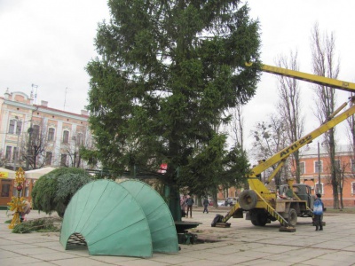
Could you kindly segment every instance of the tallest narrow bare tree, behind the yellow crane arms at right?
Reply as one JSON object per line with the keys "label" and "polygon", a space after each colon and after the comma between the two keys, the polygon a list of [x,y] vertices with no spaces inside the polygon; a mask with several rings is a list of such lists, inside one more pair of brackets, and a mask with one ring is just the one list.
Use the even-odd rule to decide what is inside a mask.
{"label": "tallest narrow bare tree, behind the yellow crane arms at right", "polygon": [[[319,26],[315,24],[312,29],[311,48],[314,74],[336,79],[339,74],[339,60],[335,59],[335,36],[333,33],[320,35]],[[318,97],[316,115],[322,123],[327,121],[329,115],[335,111],[335,89],[317,85],[316,93]],[[330,158],[334,208],[339,208],[339,182],[336,178],[335,165],[335,128],[329,129],[324,134],[324,139]]]}

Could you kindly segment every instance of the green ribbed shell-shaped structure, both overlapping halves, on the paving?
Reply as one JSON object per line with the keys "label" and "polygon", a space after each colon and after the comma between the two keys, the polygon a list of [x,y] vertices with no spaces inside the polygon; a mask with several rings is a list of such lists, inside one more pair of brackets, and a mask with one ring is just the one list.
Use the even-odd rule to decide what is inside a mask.
{"label": "green ribbed shell-shaped structure, both overlapping halves, on the paving", "polygon": [[[66,249],[88,246],[93,255],[151,257],[153,251],[177,252],[177,231],[169,208],[157,192],[146,186],[137,181],[121,185],[107,180],[84,185],[67,206],[60,244]],[[154,204],[143,204],[143,195],[145,201]],[[155,215],[159,213],[159,222],[154,222],[154,211]],[[168,225],[164,227],[162,223]],[[162,229],[161,233],[156,229]],[[176,239],[175,243],[172,239]]]}

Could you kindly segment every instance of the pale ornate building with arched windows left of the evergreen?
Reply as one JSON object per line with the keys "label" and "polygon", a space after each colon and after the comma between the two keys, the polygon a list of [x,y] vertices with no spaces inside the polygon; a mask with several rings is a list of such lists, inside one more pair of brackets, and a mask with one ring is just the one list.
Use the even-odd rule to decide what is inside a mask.
{"label": "pale ornate building with arched windows left of the evergreen", "polygon": [[[0,162],[3,168],[81,167],[80,145],[92,146],[88,112],[53,109],[20,91],[0,97]],[[36,164],[36,167],[34,165]]]}

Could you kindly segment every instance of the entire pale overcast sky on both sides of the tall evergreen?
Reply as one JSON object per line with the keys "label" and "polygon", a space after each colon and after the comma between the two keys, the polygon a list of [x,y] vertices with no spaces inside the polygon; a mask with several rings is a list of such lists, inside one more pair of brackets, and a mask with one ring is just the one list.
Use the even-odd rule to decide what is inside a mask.
{"label": "entire pale overcast sky on both sides of the tall evergreen", "polygon": [[[341,62],[339,79],[354,82],[355,1],[249,0],[250,15],[261,23],[262,60],[274,65],[280,56],[298,51],[300,71],[312,72],[311,30],[334,32]],[[0,95],[6,88],[29,95],[37,85],[36,103],[80,113],[87,104],[89,76],[84,67],[96,56],[97,25],[109,19],[104,0],[0,0]],[[256,121],[272,113],[277,79],[263,74],[256,97],[245,107],[246,139]],[[302,82],[307,127],[314,128],[312,85]],[[339,103],[347,98],[339,91]]]}

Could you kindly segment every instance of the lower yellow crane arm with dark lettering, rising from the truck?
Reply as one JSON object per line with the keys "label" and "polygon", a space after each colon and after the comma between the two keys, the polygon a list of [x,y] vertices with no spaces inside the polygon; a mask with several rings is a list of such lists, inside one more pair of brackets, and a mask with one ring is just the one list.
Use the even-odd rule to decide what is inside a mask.
{"label": "lower yellow crane arm with dark lettering, rising from the truck", "polygon": [[[355,101],[355,98],[351,98],[351,102],[353,103]],[[264,172],[267,168],[272,167],[272,165],[278,163],[280,160],[286,159],[291,153],[295,153],[298,149],[303,147],[304,145],[311,143],[312,140],[316,137],[319,137],[323,133],[327,132],[327,130],[334,128],[338,123],[344,121],[348,117],[350,117],[352,114],[355,113],[355,105],[351,106],[349,109],[345,110],[343,113],[340,113],[339,115],[335,116],[336,113],[339,113],[343,108],[347,106],[347,103],[343,103],[341,107],[336,109],[335,113],[332,113],[329,116],[329,121],[323,123],[318,129],[314,129],[311,133],[308,135],[301,137],[299,140],[294,142],[293,144],[289,145],[288,147],[284,148],[281,150],[279,153],[274,154],[271,158],[268,160],[265,160],[264,162],[256,165],[256,167],[251,169],[252,176],[257,176]]]}

